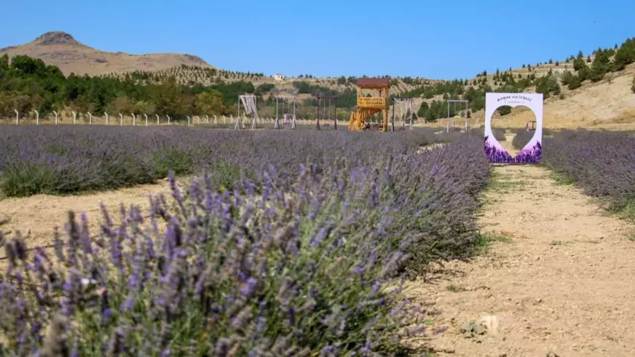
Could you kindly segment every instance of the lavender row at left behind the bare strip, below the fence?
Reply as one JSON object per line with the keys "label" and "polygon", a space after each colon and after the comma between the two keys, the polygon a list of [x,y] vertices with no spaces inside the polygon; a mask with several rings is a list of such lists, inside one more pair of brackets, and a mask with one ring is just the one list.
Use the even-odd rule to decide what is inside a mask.
{"label": "lavender row at left behind the bare strip, below the fence", "polygon": [[217,184],[231,185],[241,171],[258,179],[269,164],[290,185],[300,163],[342,155],[365,163],[443,140],[422,130],[382,134],[6,126],[0,130],[0,191],[8,196],[103,191],[156,182],[168,170],[179,175],[203,169]]}

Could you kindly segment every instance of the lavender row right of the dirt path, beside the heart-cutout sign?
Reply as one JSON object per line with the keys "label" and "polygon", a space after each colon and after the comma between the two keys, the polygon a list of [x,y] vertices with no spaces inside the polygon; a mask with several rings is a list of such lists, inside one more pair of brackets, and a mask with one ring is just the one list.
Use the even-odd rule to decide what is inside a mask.
{"label": "lavender row right of the dirt path, beside the heart-cutout sign", "polygon": [[635,212],[635,137],[563,130],[544,140],[545,165],[586,194],[608,199],[610,210]]}

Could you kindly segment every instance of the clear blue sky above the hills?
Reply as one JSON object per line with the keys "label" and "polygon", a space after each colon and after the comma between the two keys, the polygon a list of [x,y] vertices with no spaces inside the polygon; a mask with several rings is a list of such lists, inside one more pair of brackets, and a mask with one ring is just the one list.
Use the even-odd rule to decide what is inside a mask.
{"label": "clear blue sky above the hills", "polygon": [[98,50],[190,53],[267,75],[467,78],[635,36],[632,0],[6,0],[0,10],[0,47],[62,30]]}

